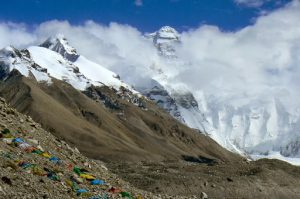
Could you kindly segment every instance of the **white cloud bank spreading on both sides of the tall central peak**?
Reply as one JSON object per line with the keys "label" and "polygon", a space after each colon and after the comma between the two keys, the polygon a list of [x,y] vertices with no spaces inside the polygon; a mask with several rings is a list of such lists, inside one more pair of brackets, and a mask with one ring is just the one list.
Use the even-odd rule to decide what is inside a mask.
{"label": "white cloud bank spreading on both sides of the tall central peak", "polygon": [[[300,3],[296,0],[236,32],[223,32],[208,25],[183,32],[177,53],[185,64],[179,74],[170,77],[171,82],[215,95],[249,99],[275,96],[299,105],[299,19]],[[172,68],[157,55],[143,33],[116,23],[104,26],[87,21],[75,26],[54,20],[31,31],[24,24],[2,23],[0,47],[39,44],[56,33],[63,33],[79,53],[128,81],[129,77],[135,81],[140,77],[142,84],[144,77],[152,75],[149,68],[153,65]]]}

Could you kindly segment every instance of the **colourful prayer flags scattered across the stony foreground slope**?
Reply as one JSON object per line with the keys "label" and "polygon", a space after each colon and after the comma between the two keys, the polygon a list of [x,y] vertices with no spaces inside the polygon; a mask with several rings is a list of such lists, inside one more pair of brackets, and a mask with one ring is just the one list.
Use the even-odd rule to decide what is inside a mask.
{"label": "colourful prayer flags scattered across the stony foreground slope", "polygon": [[[109,194],[118,194],[122,198],[134,199],[129,192],[125,192],[116,187],[109,187],[106,192],[93,195],[93,193],[90,193],[88,189],[80,187],[80,184],[100,187],[107,186],[107,183],[104,180],[92,175],[89,173],[89,170],[85,168],[79,168],[71,163],[61,160],[59,157],[56,157],[47,151],[44,151],[38,144],[37,140],[28,139],[30,143],[34,143],[37,146],[29,144],[24,138],[22,138],[21,135],[22,134],[20,132],[12,133],[9,129],[3,129],[0,133],[0,138],[2,142],[10,146],[19,147],[24,153],[38,155],[41,158],[48,159],[49,162],[58,168],[50,169],[38,164],[18,160],[12,153],[0,153],[0,155],[4,158],[14,160],[17,166],[22,168],[24,171],[38,176],[45,176],[53,181],[64,182],[77,196],[87,197],[89,199],[109,199]],[[65,173],[69,173],[69,175],[65,175]],[[142,199],[142,197],[138,196],[136,199]]]}

